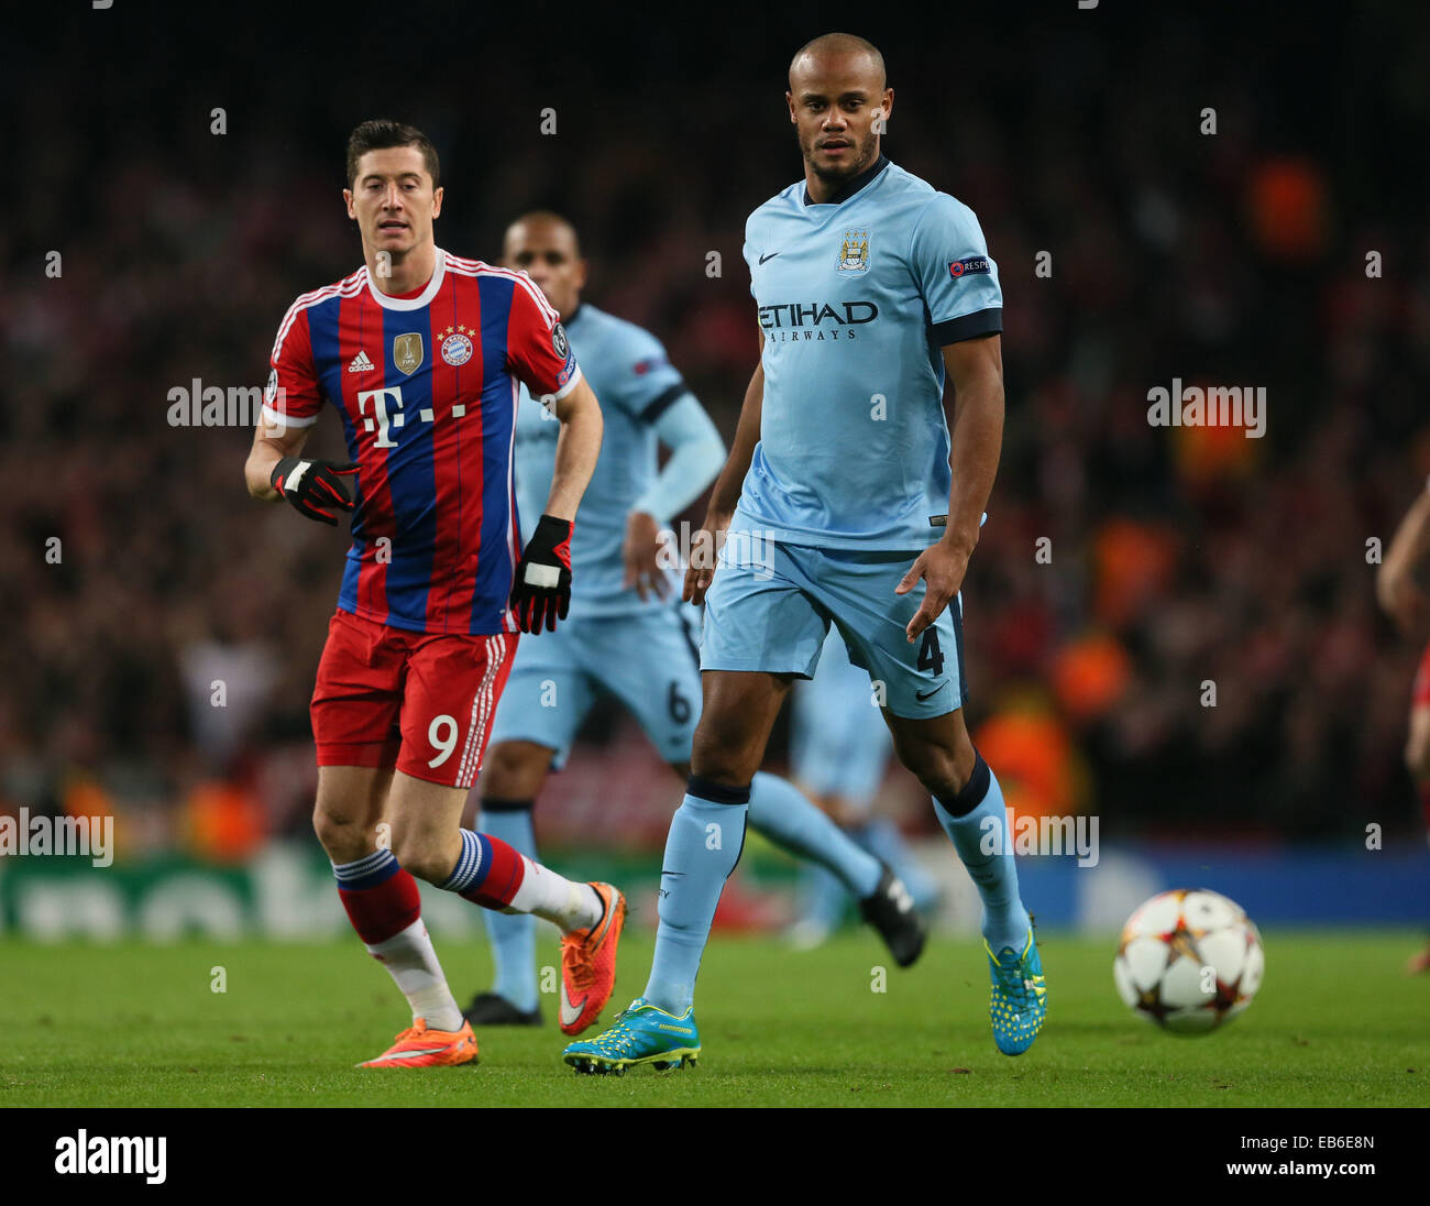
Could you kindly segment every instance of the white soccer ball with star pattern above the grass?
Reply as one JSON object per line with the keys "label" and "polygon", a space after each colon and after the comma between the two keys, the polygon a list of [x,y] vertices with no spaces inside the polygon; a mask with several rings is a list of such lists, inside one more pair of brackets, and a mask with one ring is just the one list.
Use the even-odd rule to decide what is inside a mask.
{"label": "white soccer ball with star pattern above the grass", "polygon": [[1261,934],[1234,900],[1207,888],[1154,896],[1123,926],[1113,979],[1123,1003],[1174,1034],[1207,1034],[1261,987]]}

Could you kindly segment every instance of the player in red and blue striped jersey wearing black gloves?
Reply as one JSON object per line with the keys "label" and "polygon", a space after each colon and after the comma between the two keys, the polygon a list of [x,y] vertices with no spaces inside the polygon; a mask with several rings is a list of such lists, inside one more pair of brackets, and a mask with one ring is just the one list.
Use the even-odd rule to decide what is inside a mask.
{"label": "player in red and blue striped jersey wearing black gloves", "polygon": [[[549,634],[566,615],[572,519],[601,449],[601,408],[526,276],[433,242],[440,167],[419,130],[358,126],[343,197],[363,268],[303,293],[283,318],[245,479],[255,498],[286,499],[310,519],[336,525],[353,512],[312,702],[313,827],[353,928],[412,1007],[412,1026],[362,1066],[475,1063],[413,876],[555,923],[582,1026],[615,980],[621,893],[569,883],[460,824],[518,629]],[[511,488],[518,382],[561,429],[522,554]],[[342,419],[347,464],[302,455],[323,399]]]}

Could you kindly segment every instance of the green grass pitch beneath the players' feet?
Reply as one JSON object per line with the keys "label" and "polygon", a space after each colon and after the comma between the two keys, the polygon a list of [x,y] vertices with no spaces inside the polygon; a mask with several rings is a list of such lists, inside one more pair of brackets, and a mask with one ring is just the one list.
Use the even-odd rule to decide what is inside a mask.
{"label": "green grass pitch beneath the players' feet", "polygon": [[[1430,977],[1401,969],[1423,937],[1270,933],[1260,996],[1198,1039],[1133,1017],[1113,941],[1041,936],[1048,1021],[1025,1056],[992,1046],[971,941],[931,943],[909,971],[868,933],[811,953],[716,937],[701,970],[696,1069],[575,1076],[555,997],[542,1030],[478,1034],[479,1067],[362,1072],[406,1023],[355,940],[152,947],[0,941],[4,1106],[1406,1106],[1430,1100]],[[439,943],[465,1001],[489,980],[482,943]],[[651,938],[622,944],[615,1011]],[[538,963],[556,961],[555,943]],[[214,993],[222,967],[226,991]],[[887,991],[878,986],[887,967]],[[595,1030],[588,1034],[596,1033]]]}

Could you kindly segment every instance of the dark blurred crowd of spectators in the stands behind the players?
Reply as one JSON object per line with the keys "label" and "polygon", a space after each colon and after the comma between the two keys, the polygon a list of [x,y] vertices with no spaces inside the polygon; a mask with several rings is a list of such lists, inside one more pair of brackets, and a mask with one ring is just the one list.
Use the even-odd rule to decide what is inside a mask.
{"label": "dark blurred crowd of spectators in the stands behind the players", "polygon": [[[1367,559],[1430,471],[1430,227],[1401,166],[1430,37],[1404,7],[854,30],[897,93],[887,153],[972,206],[1002,279],[1005,443],[964,607],[970,725],[1020,808],[1095,811],[1104,840],[1413,831],[1420,645],[1377,614]],[[242,857],[307,827],[345,541],[252,501],[252,432],[172,426],[169,391],[262,386],[292,299],[359,265],[347,130],[433,137],[460,255],[568,215],[586,298],[665,342],[728,441],[756,358],[744,219],[802,172],[784,69],[824,30],[419,3],[398,52],[124,20],[21,43],[0,86],[0,808]],[[1151,426],[1173,378],[1263,386],[1266,436]],[[330,416],[309,446],[342,452]],[[586,783],[593,831],[603,804],[608,838],[658,843],[678,801],[658,765],[602,717],[539,815]],[[612,827],[631,800],[654,823]]]}

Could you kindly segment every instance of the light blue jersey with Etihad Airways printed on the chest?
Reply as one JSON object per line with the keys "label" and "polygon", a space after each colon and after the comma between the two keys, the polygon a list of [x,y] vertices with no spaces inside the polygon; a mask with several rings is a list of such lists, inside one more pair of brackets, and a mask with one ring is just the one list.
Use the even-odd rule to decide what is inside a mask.
{"label": "light blue jersey with Etihad Airways printed on the chest", "polygon": [[799,180],[759,206],[745,262],[765,396],[731,529],[927,548],[951,485],[941,349],[1002,330],[978,219],[879,156],[831,203],[808,205]]}

